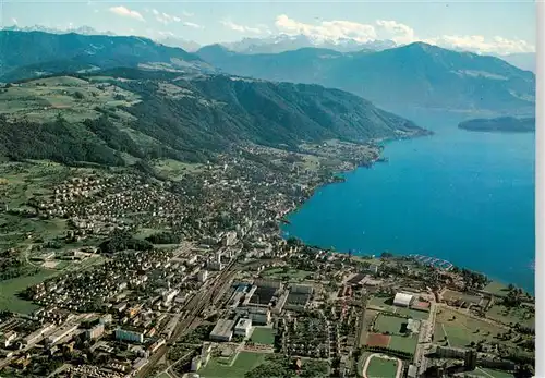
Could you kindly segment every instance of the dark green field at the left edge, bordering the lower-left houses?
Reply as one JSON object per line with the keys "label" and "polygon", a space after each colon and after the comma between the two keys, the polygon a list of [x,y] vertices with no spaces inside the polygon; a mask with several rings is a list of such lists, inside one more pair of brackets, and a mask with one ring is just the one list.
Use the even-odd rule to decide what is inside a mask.
{"label": "dark green field at the left edge, bordering the lower-left houses", "polygon": [[55,273],[55,270],[43,269],[34,276],[22,276],[11,280],[1,281],[0,284],[2,285],[2,290],[0,291],[0,310],[10,310],[21,314],[31,314],[36,310],[38,306],[20,298],[17,294],[33,284],[45,281]]}

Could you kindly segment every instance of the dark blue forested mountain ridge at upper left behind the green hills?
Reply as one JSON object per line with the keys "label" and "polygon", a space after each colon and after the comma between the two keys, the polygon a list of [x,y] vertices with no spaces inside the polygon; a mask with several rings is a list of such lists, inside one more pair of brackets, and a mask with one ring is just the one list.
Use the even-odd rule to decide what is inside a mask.
{"label": "dark blue forested mountain ridge at upper left behind the green hills", "polygon": [[4,29],[0,50],[0,82],[117,66],[211,70],[193,53],[141,37]]}

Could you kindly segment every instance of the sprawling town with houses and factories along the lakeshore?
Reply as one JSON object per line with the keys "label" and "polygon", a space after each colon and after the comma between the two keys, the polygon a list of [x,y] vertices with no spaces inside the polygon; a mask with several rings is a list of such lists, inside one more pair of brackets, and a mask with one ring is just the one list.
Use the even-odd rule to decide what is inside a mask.
{"label": "sprawling town with houses and factories along the lakeshore", "polygon": [[2,297],[17,307],[0,314],[0,376],[531,377],[522,290],[282,234],[315,190],[379,156],[339,141],[245,145],[195,167],[152,161],[155,176],[75,169],[7,202],[10,219],[57,228],[22,231],[0,257],[44,273]]}

